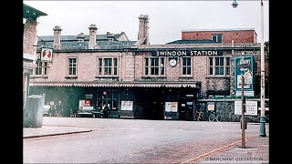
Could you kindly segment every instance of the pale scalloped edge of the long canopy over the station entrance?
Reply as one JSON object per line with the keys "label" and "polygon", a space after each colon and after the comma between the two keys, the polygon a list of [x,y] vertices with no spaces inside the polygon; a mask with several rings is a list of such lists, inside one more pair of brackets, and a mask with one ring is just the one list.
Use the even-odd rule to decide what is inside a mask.
{"label": "pale scalloped edge of the long canopy over the station entrance", "polygon": [[200,82],[33,82],[29,86],[39,87],[201,87]]}

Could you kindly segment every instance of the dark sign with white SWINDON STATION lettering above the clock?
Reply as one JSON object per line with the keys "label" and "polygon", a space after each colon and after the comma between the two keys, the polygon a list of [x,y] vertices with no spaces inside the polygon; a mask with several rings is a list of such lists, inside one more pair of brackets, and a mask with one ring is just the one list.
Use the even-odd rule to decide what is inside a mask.
{"label": "dark sign with white SWINDON STATION lettering above the clock", "polygon": [[222,56],[223,50],[157,50],[152,56]]}

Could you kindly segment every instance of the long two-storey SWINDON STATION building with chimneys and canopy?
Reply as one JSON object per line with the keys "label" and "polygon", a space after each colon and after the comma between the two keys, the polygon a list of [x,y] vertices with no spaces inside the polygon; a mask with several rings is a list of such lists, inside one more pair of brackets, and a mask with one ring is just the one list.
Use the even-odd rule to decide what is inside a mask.
{"label": "long two-storey SWINDON STATION building with chimneys and canopy", "polygon": [[[55,26],[54,36],[39,36],[39,44],[54,48],[54,60],[38,60],[32,92],[64,102],[65,116],[80,99],[89,99],[96,108],[110,107],[110,118],[193,120],[195,110],[224,97],[215,102],[216,110],[224,120],[239,118],[225,99],[234,103],[238,98],[235,56],[255,56],[259,84],[260,44],[254,29],[183,30],[182,40],[165,45],[150,45],[148,29],[148,15],[139,16],[137,41],[123,32],[99,35],[95,25],[89,26],[89,35],[61,36]],[[255,97],[259,90],[257,85]]]}

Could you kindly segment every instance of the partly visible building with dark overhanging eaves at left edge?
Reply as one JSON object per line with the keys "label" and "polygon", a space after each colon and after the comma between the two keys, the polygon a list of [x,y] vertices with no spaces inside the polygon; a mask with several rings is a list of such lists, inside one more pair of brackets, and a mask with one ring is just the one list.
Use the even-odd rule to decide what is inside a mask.
{"label": "partly visible building with dark overhanging eaves at left edge", "polygon": [[23,5],[23,108],[29,95],[29,76],[36,67],[36,26],[37,17],[47,15],[29,5]]}

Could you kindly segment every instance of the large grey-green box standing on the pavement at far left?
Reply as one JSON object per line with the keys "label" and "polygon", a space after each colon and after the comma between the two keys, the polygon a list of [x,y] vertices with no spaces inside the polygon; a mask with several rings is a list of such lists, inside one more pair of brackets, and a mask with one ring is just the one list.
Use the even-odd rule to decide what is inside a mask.
{"label": "large grey-green box standing on the pavement at far left", "polygon": [[44,104],[45,96],[43,95],[32,95],[26,98],[24,128],[42,127]]}

